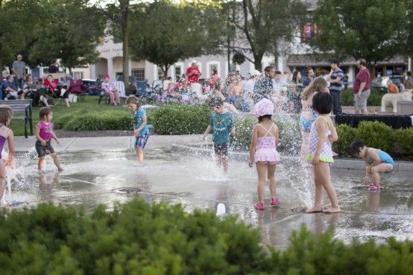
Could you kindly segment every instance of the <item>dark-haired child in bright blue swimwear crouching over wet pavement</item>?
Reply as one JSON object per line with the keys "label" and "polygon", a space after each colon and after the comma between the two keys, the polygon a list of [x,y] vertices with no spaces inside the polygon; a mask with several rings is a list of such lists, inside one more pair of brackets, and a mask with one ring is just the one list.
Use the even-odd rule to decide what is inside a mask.
{"label": "dark-haired child in bright blue swimwear crouching over wet pavement", "polygon": [[369,184],[370,178],[373,179],[368,190],[380,190],[380,173],[389,173],[393,170],[394,160],[392,157],[380,149],[366,147],[359,140],[354,140],[350,144],[350,154],[364,159],[366,162],[366,177],[364,177],[363,183]]}

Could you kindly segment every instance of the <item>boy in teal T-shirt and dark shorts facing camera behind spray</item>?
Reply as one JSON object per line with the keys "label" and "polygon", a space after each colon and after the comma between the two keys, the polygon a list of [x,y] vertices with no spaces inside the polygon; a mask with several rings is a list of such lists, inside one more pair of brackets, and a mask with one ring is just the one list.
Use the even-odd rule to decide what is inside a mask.
{"label": "boy in teal T-shirt and dark shorts facing camera behind spray", "polygon": [[224,108],[224,100],[218,96],[213,96],[209,101],[211,119],[209,126],[203,135],[207,137],[212,130],[213,150],[217,158],[217,164],[224,167],[224,172],[228,171],[228,146],[230,135],[235,135],[234,119],[231,112]]}

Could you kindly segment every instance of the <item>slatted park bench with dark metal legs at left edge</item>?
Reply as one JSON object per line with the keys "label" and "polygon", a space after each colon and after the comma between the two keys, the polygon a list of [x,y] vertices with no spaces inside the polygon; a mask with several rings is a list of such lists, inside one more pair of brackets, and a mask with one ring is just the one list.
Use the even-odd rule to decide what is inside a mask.
{"label": "slatted park bench with dark metal legs at left edge", "polygon": [[30,125],[30,135],[33,135],[32,122],[32,100],[0,100],[0,104],[5,104],[13,111],[12,120],[24,120],[24,137],[28,138],[28,126]]}

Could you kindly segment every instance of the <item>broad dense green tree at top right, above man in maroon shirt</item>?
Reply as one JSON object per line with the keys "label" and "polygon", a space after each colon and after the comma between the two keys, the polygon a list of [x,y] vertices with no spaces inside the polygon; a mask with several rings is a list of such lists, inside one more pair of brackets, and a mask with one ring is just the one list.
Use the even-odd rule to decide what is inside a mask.
{"label": "broad dense green tree at top right, above man in maroon shirt", "polygon": [[405,47],[406,12],[403,1],[321,0],[314,13],[319,32],[310,45],[339,58],[365,58],[374,67]]}

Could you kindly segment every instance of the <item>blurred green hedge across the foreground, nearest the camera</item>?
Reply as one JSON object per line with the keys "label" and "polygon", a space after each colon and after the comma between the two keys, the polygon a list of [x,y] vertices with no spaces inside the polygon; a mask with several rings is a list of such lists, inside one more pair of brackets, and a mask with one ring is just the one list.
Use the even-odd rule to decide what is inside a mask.
{"label": "blurred green hedge across the foreground, nearest the camera", "polygon": [[280,252],[229,216],[134,199],[92,213],[39,204],[0,212],[0,270],[12,274],[412,274],[413,243],[350,244],[301,228]]}

